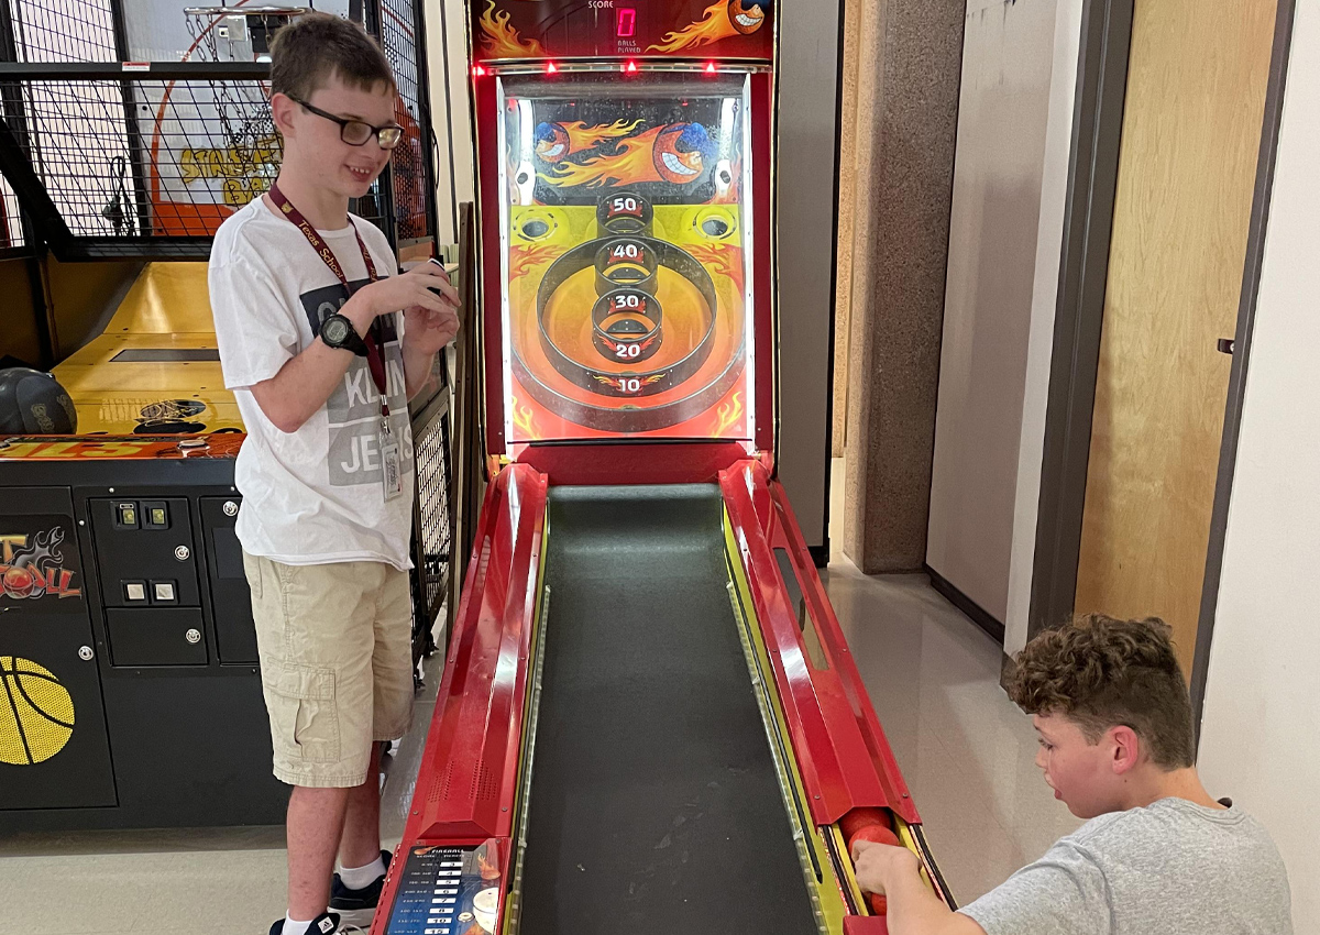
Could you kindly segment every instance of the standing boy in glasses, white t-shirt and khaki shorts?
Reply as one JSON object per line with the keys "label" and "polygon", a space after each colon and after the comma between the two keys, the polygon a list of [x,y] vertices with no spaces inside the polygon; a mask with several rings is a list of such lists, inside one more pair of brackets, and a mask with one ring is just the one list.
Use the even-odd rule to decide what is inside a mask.
{"label": "standing boy in glasses, white t-shirt and khaki shorts", "polygon": [[380,741],[407,730],[413,687],[408,400],[458,331],[458,296],[438,264],[392,276],[384,234],[348,214],[401,137],[380,48],[308,13],[271,54],[284,161],[216,232],[210,294],[248,432],[238,536],[275,775],[293,786],[271,935],[329,935],[341,915],[370,923],[389,857]]}

